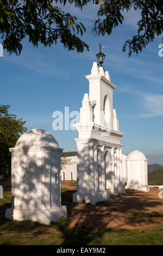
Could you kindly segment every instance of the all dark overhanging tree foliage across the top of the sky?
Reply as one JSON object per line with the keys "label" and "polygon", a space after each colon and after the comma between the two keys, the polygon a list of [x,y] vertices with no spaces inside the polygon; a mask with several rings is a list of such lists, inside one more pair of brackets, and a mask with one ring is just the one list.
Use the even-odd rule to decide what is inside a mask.
{"label": "all dark overhanging tree foliage across the top of the sky", "polygon": [[21,41],[28,36],[34,47],[39,42],[51,46],[60,41],[68,50],[89,50],[86,42],[78,36],[85,32],[83,23],[78,22],[76,16],[61,11],[56,6],[58,2],[74,4],[74,8],[80,9],[90,2],[99,4],[97,17],[93,21],[94,35],[110,35],[112,29],[123,23],[124,10],[134,8],[140,11],[137,34],[123,45],[123,52],[128,48],[129,56],[132,52],[141,52],[156,35],[163,32],[162,0],[0,0],[0,34],[4,48],[9,53],[20,54]]}

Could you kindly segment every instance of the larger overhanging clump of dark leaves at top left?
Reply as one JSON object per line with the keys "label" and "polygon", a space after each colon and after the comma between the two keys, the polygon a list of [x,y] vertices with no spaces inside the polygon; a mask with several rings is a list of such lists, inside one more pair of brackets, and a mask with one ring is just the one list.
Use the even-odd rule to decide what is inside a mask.
{"label": "larger overhanging clump of dark leaves at top left", "polygon": [[10,53],[20,54],[21,41],[26,36],[33,46],[39,42],[44,46],[57,44],[59,40],[68,50],[83,52],[88,46],[78,34],[83,35],[85,27],[70,13],[64,13],[45,0],[2,0],[0,1],[0,33],[3,46]]}

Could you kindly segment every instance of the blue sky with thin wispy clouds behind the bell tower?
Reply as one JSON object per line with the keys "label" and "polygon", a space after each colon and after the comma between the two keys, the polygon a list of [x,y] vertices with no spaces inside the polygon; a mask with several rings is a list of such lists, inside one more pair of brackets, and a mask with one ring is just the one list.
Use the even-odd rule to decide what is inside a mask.
{"label": "blue sky with thin wispy clouds behind the bell tower", "polygon": [[[98,44],[105,46],[104,68],[109,71],[114,90],[114,107],[120,120],[123,153],[137,149],[148,163],[163,164],[163,77],[162,60],[158,56],[161,37],[155,38],[137,57],[122,52],[126,39],[136,33],[139,13],[124,13],[123,25],[109,36],[93,36],[91,21],[97,5],[89,4],[83,11],[67,4],[64,8],[82,21],[87,32],[82,39],[90,46],[84,53],[68,52],[60,43],[51,48],[34,48],[23,40],[20,56],[4,51],[0,58],[0,102],[11,105],[10,113],[27,121],[28,129],[40,128],[53,134],[65,151],[76,150],[77,131],[54,131],[52,113],[79,111],[83,95],[89,88],[85,76],[90,74]],[[1,42],[1,41],[0,41]]]}

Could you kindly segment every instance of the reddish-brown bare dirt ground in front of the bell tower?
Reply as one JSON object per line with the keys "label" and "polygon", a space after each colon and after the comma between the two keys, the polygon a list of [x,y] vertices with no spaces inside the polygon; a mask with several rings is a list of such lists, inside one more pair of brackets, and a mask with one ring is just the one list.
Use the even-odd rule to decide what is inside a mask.
{"label": "reddish-brown bare dirt ground in front of the bell tower", "polygon": [[[64,181],[61,187],[70,189],[71,182]],[[76,186],[71,186],[71,196],[75,190]],[[67,205],[70,226],[141,230],[163,225],[163,199],[158,193],[158,188],[151,188],[149,193],[127,191],[126,196],[112,196],[97,205]]]}

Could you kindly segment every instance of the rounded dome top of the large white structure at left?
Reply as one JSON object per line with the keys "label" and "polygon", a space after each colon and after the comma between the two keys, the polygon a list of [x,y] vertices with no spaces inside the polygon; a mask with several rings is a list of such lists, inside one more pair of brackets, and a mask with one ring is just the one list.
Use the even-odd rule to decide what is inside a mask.
{"label": "rounded dome top of the large white structure at left", "polygon": [[16,142],[15,148],[55,148],[59,149],[58,142],[51,133],[41,130],[32,129],[25,132]]}

